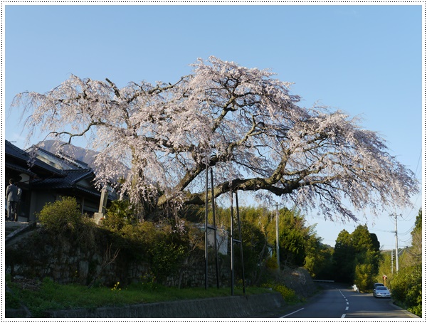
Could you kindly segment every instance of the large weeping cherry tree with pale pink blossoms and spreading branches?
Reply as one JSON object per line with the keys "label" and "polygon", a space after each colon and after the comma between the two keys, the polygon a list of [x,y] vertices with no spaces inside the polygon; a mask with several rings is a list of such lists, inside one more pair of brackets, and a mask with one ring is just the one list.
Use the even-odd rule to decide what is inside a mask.
{"label": "large weeping cherry tree with pale pink blossoms and spreading branches", "polygon": [[[203,205],[204,170],[214,196],[281,196],[325,218],[356,219],[410,205],[414,174],[356,117],[300,107],[274,73],[215,57],[174,83],[129,83],[71,75],[46,93],[16,95],[25,127],[97,154],[97,185],[115,186],[145,211]],[[208,195],[211,198],[211,194]]]}

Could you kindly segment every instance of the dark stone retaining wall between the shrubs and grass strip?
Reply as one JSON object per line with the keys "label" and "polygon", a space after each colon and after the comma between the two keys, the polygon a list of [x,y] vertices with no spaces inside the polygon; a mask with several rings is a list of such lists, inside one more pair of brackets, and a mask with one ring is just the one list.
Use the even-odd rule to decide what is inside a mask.
{"label": "dark stone retaining wall between the shrubs and grass strip", "polygon": [[[52,237],[41,229],[23,233],[8,240],[5,248],[5,269],[17,277],[43,280],[50,277],[62,284],[78,283],[81,285],[113,286],[141,282],[149,277],[152,270],[144,258],[135,259],[120,250],[115,251],[107,236],[97,233],[96,243],[91,248],[70,238]],[[109,250],[110,246],[110,250]],[[220,264],[220,286],[228,285],[229,268]],[[216,286],[214,265],[209,266],[209,286]],[[149,279],[149,278],[148,278]],[[201,287],[205,282],[204,260],[194,262],[191,266],[171,272],[164,285],[173,287]]]}

